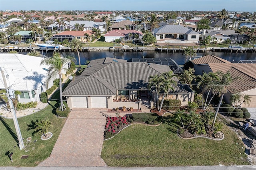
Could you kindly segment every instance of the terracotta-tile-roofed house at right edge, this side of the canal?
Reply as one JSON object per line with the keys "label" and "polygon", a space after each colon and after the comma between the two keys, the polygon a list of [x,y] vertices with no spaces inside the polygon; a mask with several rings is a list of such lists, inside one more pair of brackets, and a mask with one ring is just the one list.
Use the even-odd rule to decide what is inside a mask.
{"label": "terracotta-tile-roofed house at right edge, this side of the canal", "polygon": [[[242,104],[241,107],[256,107],[256,63],[231,63],[214,55],[192,60],[196,75],[204,72],[229,71],[232,77],[239,77],[230,86],[224,95],[224,101],[230,103],[230,96],[236,93],[250,95],[250,106]],[[239,105],[240,103],[238,103]]]}

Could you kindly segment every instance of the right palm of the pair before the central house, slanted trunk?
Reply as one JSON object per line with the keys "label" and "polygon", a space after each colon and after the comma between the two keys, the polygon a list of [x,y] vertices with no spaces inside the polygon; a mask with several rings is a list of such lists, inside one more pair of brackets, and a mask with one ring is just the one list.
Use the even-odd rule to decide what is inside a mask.
{"label": "right palm of the pair before the central house, slanted trunk", "polygon": [[163,78],[160,82],[160,89],[164,91],[164,95],[161,101],[159,112],[162,109],[163,103],[164,103],[164,97],[168,95],[169,92],[174,91],[174,86],[177,85],[177,81],[175,81],[173,78],[176,77],[172,71],[165,72],[162,74]]}

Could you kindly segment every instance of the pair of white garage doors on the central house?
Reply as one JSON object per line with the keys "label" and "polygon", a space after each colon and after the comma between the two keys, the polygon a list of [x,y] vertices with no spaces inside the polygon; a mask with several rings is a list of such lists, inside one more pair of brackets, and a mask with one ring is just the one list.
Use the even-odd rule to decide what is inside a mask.
{"label": "pair of white garage doors on the central house", "polygon": [[73,108],[88,108],[91,105],[92,108],[106,108],[106,97],[90,97],[91,103],[88,103],[87,97],[72,97]]}

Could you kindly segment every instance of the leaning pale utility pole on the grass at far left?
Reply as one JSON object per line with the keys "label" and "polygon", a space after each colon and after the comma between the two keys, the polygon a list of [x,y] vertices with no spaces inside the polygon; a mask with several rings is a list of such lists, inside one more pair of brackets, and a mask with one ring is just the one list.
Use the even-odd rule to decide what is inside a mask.
{"label": "leaning pale utility pole on the grass at far left", "polygon": [[19,147],[20,147],[20,150],[22,150],[24,148],[24,143],[23,143],[23,139],[22,139],[22,136],[21,136],[20,126],[19,126],[19,123],[18,123],[18,120],[17,120],[17,117],[16,117],[15,109],[14,109],[14,106],[13,106],[13,103],[12,103],[12,99],[15,97],[14,91],[12,89],[8,89],[6,79],[5,79],[5,76],[4,76],[4,70],[2,70],[1,67],[0,67],[0,71],[2,73],[2,77],[3,77],[3,81],[4,81],[4,88],[6,89],[6,92],[7,92],[6,95],[8,97],[8,102],[9,102],[10,109],[11,109],[11,112],[12,112],[12,119],[14,121],[14,126],[15,126],[16,133],[17,133],[17,136],[18,136]]}

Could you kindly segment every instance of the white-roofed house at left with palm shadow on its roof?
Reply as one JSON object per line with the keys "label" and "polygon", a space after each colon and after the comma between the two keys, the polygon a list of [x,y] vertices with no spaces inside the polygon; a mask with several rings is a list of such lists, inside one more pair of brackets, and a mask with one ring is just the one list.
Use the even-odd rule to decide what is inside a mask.
{"label": "white-roofed house at left with palm shadow on its roof", "polygon": [[[56,77],[46,87],[49,66],[40,65],[42,59],[44,58],[18,53],[2,53],[0,55],[0,67],[4,70],[4,75],[8,75],[6,77],[8,87],[22,93],[18,95],[20,103],[40,101],[40,93],[53,85],[53,80]],[[68,64],[65,65],[65,68],[67,67]],[[63,70],[64,75],[65,71]],[[5,89],[2,76],[0,76],[0,89]]]}

